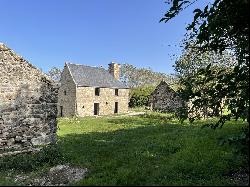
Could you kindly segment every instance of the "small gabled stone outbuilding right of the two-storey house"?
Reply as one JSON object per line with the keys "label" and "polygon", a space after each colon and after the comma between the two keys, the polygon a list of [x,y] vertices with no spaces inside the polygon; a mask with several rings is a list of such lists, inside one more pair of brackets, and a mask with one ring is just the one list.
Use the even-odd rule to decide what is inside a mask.
{"label": "small gabled stone outbuilding right of the two-storey house", "polygon": [[175,112],[183,105],[183,102],[165,81],[161,81],[149,96],[149,105],[153,110]]}

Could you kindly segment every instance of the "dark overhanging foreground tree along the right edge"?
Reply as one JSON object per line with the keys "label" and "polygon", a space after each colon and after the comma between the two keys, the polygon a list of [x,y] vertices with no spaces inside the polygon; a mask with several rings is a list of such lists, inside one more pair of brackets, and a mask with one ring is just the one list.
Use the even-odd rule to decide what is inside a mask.
{"label": "dark overhanging foreground tree along the right edge", "polygon": [[[195,1],[172,0],[172,6],[160,22],[169,21]],[[215,0],[204,10],[195,9],[194,19],[186,28],[187,34],[184,40],[186,49],[195,48],[201,53],[206,51],[222,53],[231,50],[237,60],[231,71],[225,69],[215,71],[209,64],[197,71],[198,78],[190,77],[189,80],[182,82],[184,88],[180,93],[183,98],[192,99],[192,104],[198,108],[201,108],[204,102],[211,101],[207,97],[217,100],[220,105],[224,99],[229,114],[222,115],[215,127],[223,125],[231,118],[247,118],[249,122],[248,9],[249,0]],[[201,97],[199,91],[192,90],[193,85],[209,85],[204,91],[206,97]]]}

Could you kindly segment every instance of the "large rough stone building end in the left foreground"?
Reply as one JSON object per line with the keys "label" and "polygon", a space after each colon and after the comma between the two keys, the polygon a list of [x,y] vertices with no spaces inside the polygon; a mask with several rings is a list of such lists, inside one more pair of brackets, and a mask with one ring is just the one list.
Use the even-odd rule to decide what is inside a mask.
{"label": "large rough stone building end in the left foreground", "polygon": [[0,153],[55,140],[57,92],[49,77],[0,43]]}

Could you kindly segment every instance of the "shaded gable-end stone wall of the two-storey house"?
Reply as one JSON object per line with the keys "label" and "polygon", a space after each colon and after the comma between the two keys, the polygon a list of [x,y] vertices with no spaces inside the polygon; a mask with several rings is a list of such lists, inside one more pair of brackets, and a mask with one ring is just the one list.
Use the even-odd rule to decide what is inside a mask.
{"label": "shaded gable-end stone wall of the two-storey house", "polygon": [[58,91],[58,116],[61,117],[61,108],[63,116],[74,116],[76,112],[76,84],[70,75],[70,71],[65,65],[61,80],[61,86]]}

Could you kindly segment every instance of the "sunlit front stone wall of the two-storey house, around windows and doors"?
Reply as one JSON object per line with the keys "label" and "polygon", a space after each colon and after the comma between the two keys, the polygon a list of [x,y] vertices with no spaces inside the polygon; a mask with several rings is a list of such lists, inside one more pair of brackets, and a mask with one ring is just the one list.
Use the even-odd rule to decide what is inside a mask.
{"label": "sunlit front stone wall of the two-storey house, around windows and doors", "polygon": [[93,116],[94,103],[99,103],[99,115],[114,114],[115,102],[118,102],[118,114],[128,112],[129,89],[119,89],[118,96],[115,89],[100,88],[100,95],[95,95],[93,87],[78,87],[76,90],[77,115]]}

